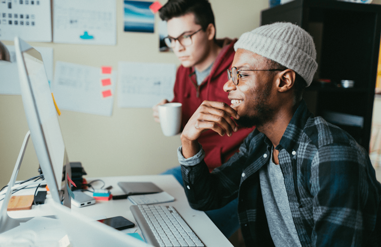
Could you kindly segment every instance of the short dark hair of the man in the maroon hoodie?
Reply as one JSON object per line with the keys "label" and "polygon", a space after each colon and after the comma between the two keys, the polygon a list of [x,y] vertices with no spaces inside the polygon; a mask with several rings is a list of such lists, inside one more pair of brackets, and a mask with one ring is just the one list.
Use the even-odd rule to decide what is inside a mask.
{"label": "short dark hair of the man in the maroon hoodie", "polygon": [[163,21],[193,13],[195,24],[201,25],[204,32],[210,23],[216,28],[214,14],[208,0],[168,0],[159,9],[159,13]]}

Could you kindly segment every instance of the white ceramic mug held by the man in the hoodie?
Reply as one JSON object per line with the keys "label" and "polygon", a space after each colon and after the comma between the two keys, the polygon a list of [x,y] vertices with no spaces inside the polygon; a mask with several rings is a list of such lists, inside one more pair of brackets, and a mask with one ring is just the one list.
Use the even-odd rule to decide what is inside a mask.
{"label": "white ceramic mug held by the man in the hoodie", "polygon": [[181,130],[181,103],[166,103],[158,106],[160,126],[165,136],[174,136]]}

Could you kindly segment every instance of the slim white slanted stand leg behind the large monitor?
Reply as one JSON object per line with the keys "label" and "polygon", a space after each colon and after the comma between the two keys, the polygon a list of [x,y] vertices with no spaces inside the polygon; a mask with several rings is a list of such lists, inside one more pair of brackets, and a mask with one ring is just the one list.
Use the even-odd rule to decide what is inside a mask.
{"label": "slim white slanted stand leg behind the large monitor", "polygon": [[13,191],[12,187],[14,186],[14,183],[16,182],[16,177],[17,177],[17,174],[19,173],[19,170],[20,170],[22,158],[24,157],[26,146],[27,146],[28,141],[29,141],[29,137],[30,137],[30,131],[28,131],[26,133],[25,138],[24,138],[24,142],[22,142],[22,146],[21,146],[21,149],[19,152],[19,157],[17,158],[16,165],[14,166],[11,179],[9,180],[9,183],[8,183],[8,188],[7,188],[6,193],[5,193],[3,204],[2,204],[2,207],[0,209],[0,233],[11,230],[12,228],[14,228],[16,226],[19,226],[20,223],[27,222],[28,220],[30,220],[32,218],[32,217],[30,217],[30,218],[11,218],[8,216],[8,213],[7,213],[8,203],[9,203],[9,200],[11,199],[11,195],[12,195],[12,191]]}

